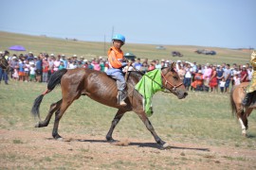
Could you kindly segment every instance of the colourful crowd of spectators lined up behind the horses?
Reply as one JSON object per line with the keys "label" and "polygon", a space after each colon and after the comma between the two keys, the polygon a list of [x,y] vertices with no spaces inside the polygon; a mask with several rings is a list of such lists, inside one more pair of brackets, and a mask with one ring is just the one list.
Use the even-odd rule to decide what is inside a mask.
{"label": "colourful crowd of spectators lined up behind the horses", "polygon": [[[3,55],[0,52],[0,55]],[[83,57],[65,57],[62,55],[40,53],[34,56],[32,52],[19,56],[13,54],[5,57],[9,61],[9,77],[17,81],[35,81],[47,82],[49,76],[58,70],[88,68],[101,72],[108,69],[108,61],[106,58],[84,59]],[[173,61],[166,59],[132,59],[132,66],[125,67],[126,71],[138,70],[142,73],[154,69],[161,69],[169,66]],[[229,93],[229,87],[238,85],[242,82],[250,81],[252,78],[252,67],[246,63],[238,65],[233,63],[230,67],[229,63],[222,64],[197,64],[189,61],[176,61],[176,72],[183,80],[187,91],[204,91],[213,93]],[[4,70],[0,70],[0,82],[5,79],[8,84],[8,77],[3,76]]]}

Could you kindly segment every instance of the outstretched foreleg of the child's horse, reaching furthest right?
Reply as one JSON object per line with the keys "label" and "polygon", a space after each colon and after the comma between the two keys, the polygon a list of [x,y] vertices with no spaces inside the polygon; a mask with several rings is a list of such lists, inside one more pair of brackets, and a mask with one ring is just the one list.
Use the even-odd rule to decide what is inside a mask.
{"label": "outstretched foreleg of the child's horse, reaching furthest right", "polygon": [[146,116],[144,111],[140,111],[137,112],[139,118],[142,120],[142,122],[144,123],[144,125],[148,128],[148,130],[150,130],[150,132],[152,133],[152,135],[155,138],[155,142],[157,144],[161,144],[162,146],[166,147],[166,143],[164,141],[162,141],[157,134],[155,133],[155,129],[154,127],[151,125],[151,122],[149,121],[148,117]]}

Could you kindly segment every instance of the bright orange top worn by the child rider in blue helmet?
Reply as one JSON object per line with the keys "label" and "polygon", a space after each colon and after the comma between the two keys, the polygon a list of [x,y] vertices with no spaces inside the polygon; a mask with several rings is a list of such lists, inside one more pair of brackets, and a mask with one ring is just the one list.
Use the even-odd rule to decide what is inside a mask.
{"label": "bright orange top worn by the child rider in blue helmet", "polygon": [[107,54],[108,54],[109,65],[111,67],[120,68],[122,66],[120,60],[124,59],[124,57],[123,57],[123,52],[120,49],[117,49],[114,46],[111,46]]}

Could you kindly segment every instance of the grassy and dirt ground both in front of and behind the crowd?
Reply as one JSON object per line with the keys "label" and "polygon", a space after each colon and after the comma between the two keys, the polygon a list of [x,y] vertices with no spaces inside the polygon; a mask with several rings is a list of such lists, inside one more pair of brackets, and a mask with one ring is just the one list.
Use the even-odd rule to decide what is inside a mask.
{"label": "grassy and dirt ground both in front of and behind the crowd", "polygon": [[[70,42],[0,32],[0,50],[21,44],[27,51],[103,55],[101,42]],[[171,46],[158,51],[155,45],[126,44],[124,51],[149,59],[182,59],[205,63],[246,63],[249,52],[210,48],[217,56],[196,55],[196,46]],[[34,99],[46,90],[45,83],[10,81],[0,84],[0,169],[256,169],[256,114],[248,117],[248,137],[231,115],[229,93],[193,93],[178,100],[174,94],[156,93],[155,113],[150,121],[159,137],[171,144],[160,150],[151,133],[134,112],[126,113],[113,137],[128,140],[128,146],[105,143],[116,109],[82,96],[66,110],[60,122],[65,141],[52,140],[54,116],[48,127],[35,128],[30,115]],[[61,89],[48,93],[41,105],[45,119],[51,103],[61,98]]]}

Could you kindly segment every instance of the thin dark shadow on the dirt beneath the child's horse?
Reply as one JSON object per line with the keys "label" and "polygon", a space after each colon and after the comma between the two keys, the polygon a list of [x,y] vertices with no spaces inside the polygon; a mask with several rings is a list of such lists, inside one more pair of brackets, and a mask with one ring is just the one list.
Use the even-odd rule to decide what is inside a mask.
{"label": "thin dark shadow on the dirt beneath the child's horse", "polygon": [[[83,139],[72,139],[72,140],[64,140],[64,142],[71,142],[71,141],[76,141],[76,142],[83,142],[83,143],[105,143],[109,144],[106,140],[83,140]],[[119,142],[119,141],[118,141]],[[162,145],[160,144],[155,144],[155,143],[130,143],[128,145],[133,145],[137,147],[151,147],[151,148],[156,148],[159,150],[164,149]],[[174,146],[172,145],[170,147],[171,149],[182,149],[182,150],[199,150],[199,151],[206,151],[209,152],[209,148],[199,148],[199,147],[181,147],[181,146]]]}

